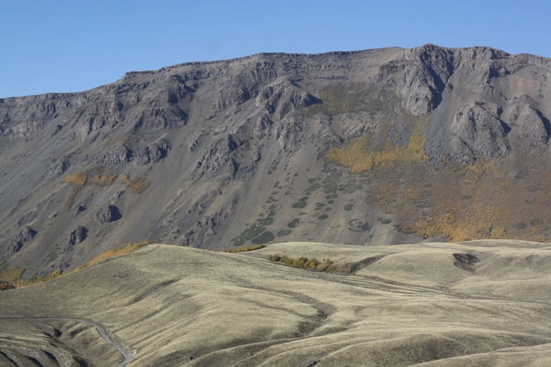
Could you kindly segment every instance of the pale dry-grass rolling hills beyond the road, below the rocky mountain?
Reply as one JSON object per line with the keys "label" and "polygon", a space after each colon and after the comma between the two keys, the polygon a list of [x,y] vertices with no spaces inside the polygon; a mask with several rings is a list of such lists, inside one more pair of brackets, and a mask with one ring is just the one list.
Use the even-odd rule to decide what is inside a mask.
{"label": "pale dry-grass rolling hills beyond the road, below the rocky mountain", "polygon": [[[355,273],[270,255],[329,258]],[[550,255],[548,244],[512,240],[236,254],[151,244],[1,292],[0,308],[91,319],[127,348],[128,366],[545,366]],[[0,319],[2,366],[114,366],[107,347],[74,322]]]}

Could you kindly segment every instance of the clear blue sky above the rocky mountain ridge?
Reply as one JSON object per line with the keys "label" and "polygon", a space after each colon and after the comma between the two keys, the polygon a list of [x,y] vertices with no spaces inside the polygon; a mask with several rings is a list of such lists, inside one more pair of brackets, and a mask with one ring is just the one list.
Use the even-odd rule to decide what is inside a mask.
{"label": "clear blue sky above the rocky mountain ridge", "polygon": [[0,0],[0,98],[258,52],[424,43],[551,56],[551,0]]}

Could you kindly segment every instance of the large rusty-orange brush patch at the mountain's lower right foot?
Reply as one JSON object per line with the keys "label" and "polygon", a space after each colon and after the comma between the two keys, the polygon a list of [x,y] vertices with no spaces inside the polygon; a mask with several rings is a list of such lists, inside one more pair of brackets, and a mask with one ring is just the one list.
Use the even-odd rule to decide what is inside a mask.
{"label": "large rusty-orange brush patch at the mountain's lower right foot", "polygon": [[[478,160],[470,167],[448,165],[435,173],[401,166],[408,172],[406,180],[399,184],[386,176],[387,184],[375,187],[374,196],[380,209],[395,214],[399,229],[422,238],[546,242],[551,172],[540,163]],[[514,167],[532,165],[539,168],[530,170],[528,178],[508,174],[517,172]]]}

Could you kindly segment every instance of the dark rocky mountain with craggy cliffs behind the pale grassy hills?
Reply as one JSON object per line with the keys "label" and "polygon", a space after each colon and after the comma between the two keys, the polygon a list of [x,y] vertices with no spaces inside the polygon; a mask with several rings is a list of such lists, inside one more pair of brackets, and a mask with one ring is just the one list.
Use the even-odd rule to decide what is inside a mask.
{"label": "dark rocky mountain with craggy cliffs behind the pale grassy hills", "polygon": [[424,45],[185,63],[0,99],[0,259],[550,240],[551,61]]}

